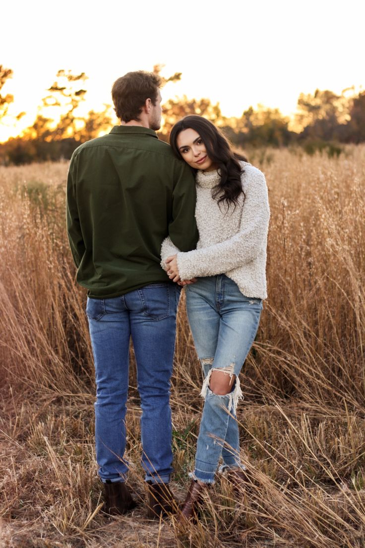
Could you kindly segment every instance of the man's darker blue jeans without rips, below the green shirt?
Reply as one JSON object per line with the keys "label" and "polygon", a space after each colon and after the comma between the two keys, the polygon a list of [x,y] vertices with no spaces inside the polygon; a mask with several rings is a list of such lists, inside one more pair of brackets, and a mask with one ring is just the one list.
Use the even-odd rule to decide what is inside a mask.
{"label": "man's darker blue jeans without rips, below the green shirt", "polygon": [[142,466],[146,481],[172,472],[170,378],[180,289],[153,283],[86,306],[96,376],[95,444],[103,482],[125,481],[125,413],[132,338],[141,397]]}

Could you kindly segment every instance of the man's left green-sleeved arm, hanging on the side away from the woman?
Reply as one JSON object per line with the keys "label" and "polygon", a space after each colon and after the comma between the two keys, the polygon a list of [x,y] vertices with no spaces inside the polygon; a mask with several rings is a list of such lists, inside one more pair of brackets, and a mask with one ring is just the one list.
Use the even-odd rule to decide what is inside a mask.
{"label": "man's left green-sleeved arm, hanging on the side away from the woman", "polygon": [[85,253],[85,244],[82,236],[79,212],[77,207],[76,181],[77,181],[77,156],[72,155],[67,175],[66,195],[66,224],[69,246],[74,264],[77,268]]}

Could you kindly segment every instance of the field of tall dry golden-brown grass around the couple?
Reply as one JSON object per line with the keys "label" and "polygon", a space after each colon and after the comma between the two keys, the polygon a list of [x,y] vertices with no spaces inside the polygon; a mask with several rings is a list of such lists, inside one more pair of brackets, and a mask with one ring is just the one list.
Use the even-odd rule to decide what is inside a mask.
{"label": "field of tall dry golden-brown grass around the couple", "polygon": [[[108,521],[94,455],[85,294],[65,236],[67,164],[0,168],[1,542],[4,546],[365,546],[365,148],[269,151],[269,299],[242,372],[242,460],[195,528],[144,518],[131,368],[130,483],[141,505]],[[175,488],[199,426],[201,375],[182,306],[172,379]],[[133,362],[133,355],[131,355]]]}

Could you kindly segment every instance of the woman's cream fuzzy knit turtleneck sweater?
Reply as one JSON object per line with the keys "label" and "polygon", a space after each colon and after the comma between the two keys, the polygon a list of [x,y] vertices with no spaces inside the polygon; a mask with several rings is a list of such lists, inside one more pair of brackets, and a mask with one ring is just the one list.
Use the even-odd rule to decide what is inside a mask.
{"label": "woman's cream fuzzy knit turtleneck sweater", "polygon": [[234,209],[212,198],[219,180],[217,170],[196,174],[195,218],[199,230],[196,249],[181,253],[171,239],[161,248],[161,266],[177,253],[181,279],[225,274],[247,297],[266,299],[266,243],[269,199],[265,177],[259,169],[242,162],[243,195]]}

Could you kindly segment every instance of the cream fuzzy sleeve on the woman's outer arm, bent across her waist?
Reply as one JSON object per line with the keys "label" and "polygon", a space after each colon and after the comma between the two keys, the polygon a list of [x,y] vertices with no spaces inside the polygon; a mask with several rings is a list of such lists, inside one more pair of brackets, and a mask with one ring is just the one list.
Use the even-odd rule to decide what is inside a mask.
{"label": "cream fuzzy sleeve on the woman's outer arm, bent across her waist", "polygon": [[[244,174],[245,176],[245,174]],[[242,266],[262,253],[268,235],[270,209],[265,176],[256,168],[247,173],[240,231],[213,246],[177,254],[181,279],[215,276]]]}

